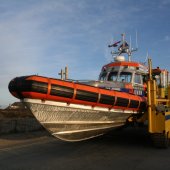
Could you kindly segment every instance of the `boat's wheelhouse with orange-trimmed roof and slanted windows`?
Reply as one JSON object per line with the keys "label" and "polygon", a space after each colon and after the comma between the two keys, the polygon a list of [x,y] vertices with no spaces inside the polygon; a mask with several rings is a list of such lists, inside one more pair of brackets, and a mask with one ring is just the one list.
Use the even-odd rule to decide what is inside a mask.
{"label": "boat's wheelhouse with orange-trimmed roof and slanted windows", "polygon": [[145,96],[147,73],[145,65],[117,56],[114,62],[103,66],[99,81],[109,84],[112,90]]}

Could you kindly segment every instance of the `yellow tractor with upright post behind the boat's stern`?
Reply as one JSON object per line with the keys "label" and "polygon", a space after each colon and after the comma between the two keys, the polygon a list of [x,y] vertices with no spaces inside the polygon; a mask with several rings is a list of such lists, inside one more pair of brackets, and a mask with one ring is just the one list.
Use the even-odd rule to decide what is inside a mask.
{"label": "yellow tractor with upright post behind the boat's stern", "polygon": [[167,70],[152,69],[148,59],[148,131],[156,147],[167,148],[170,139],[170,84]]}

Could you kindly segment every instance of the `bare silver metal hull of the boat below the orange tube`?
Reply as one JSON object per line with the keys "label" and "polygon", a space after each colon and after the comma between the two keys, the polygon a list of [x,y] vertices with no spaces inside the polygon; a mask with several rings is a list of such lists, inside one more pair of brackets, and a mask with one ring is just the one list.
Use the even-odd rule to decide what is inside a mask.
{"label": "bare silver metal hull of the boat below the orange tube", "polygon": [[24,99],[36,119],[53,136],[64,141],[81,141],[123,126],[134,111]]}

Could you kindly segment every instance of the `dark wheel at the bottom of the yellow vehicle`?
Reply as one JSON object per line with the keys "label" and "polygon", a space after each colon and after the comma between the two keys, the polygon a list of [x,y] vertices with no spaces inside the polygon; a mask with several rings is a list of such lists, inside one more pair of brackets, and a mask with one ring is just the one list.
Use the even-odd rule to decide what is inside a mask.
{"label": "dark wheel at the bottom of the yellow vehicle", "polygon": [[157,148],[168,148],[169,138],[168,134],[164,133],[154,133],[152,134],[153,145]]}

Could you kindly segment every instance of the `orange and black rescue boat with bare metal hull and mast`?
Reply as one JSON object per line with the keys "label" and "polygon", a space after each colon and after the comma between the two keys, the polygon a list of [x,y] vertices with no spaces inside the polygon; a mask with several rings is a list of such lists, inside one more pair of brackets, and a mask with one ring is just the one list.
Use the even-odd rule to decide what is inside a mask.
{"label": "orange and black rescue boat with bare metal hull and mast", "polygon": [[61,80],[37,75],[16,77],[9,91],[31,110],[50,133],[65,141],[80,141],[125,125],[144,114],[147,67],[125,60],[131,55],[124,40],[114,61],[104,65],[98,81]]}

